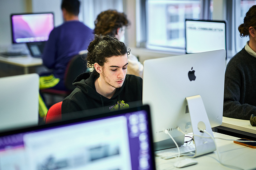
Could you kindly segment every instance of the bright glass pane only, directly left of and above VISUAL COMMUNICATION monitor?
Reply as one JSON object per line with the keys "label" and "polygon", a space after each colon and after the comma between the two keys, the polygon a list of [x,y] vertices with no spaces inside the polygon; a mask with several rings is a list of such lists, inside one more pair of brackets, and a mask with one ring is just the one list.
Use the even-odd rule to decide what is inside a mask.
{"label": "bright glass pane only, directly left of and above VISUAL COMMUNICATION monitor", "polygon": [[185,49],[185,19],[199,19],[201,0],[148,0],[147,45]]}

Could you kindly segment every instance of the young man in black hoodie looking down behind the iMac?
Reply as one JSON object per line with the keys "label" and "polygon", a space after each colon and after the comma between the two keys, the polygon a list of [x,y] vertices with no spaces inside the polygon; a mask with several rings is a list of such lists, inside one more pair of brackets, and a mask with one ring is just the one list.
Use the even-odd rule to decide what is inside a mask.
{"label": "young man in black hoodie looking down behind the iMac", "polygon": [[129,108],[129,103],[135,101],[142,104],[142,79],[126,74],[127,54],[127,47],[117,38],[95,35],[86,58],[94,70],[74,81],[76,88],[62,102],[62,120],[72,117],[71,112],[104,106],[108,106],[108,112]]}

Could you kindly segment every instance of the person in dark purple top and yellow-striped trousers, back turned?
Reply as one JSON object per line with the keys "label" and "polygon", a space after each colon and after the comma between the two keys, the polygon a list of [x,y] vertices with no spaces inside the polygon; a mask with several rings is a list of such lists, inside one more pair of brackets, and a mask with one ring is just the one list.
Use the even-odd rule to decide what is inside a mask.
{"label": "person in dark purple top and yellow-striped trousers, back turned", "polygon": [[[61,10],[65,22],[52,30],[45,43],[42,60],[52,72],[40,75],[40,89],[66,90],[63,79],[69,61],[80,51],[87,50],[94,38],[93,30],[78,19],[79,7],[78,0],[62,0]],[[47,110],[44,102],[39,102],[40,117],[44,117]]]}

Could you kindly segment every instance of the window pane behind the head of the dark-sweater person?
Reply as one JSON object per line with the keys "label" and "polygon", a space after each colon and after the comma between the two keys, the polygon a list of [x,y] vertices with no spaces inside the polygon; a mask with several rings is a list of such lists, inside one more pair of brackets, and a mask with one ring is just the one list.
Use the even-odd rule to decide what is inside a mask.
{"label": "window pane behind the head of the dark-sweater person", "polygon": [[240,16],[238,16],[238,18],[236,18],[236,51],[239,52],[242,48],[244,48],[246,42],[249,40],[249,36],[247,37],[240,37],[240,33],[238,31],[238,27],[240,26],[240,24],[243,23],[245,14],[248,12],[248,10],[250,9],[250,7],[252,7],[253,5],[256,5],[256,0],[241,0],[240,3],[240,8],[237,8],[237,10],[240,10]]}

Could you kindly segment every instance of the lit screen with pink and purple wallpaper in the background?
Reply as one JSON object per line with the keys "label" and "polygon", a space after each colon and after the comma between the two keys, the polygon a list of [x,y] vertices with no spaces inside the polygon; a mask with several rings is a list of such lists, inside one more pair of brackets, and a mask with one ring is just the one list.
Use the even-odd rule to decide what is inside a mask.
{"label": "lit screen with pink and purple wallpaper in the background", "polygon": [[47,41],[54,28],[52,13],[12,15],[13,43]]}

